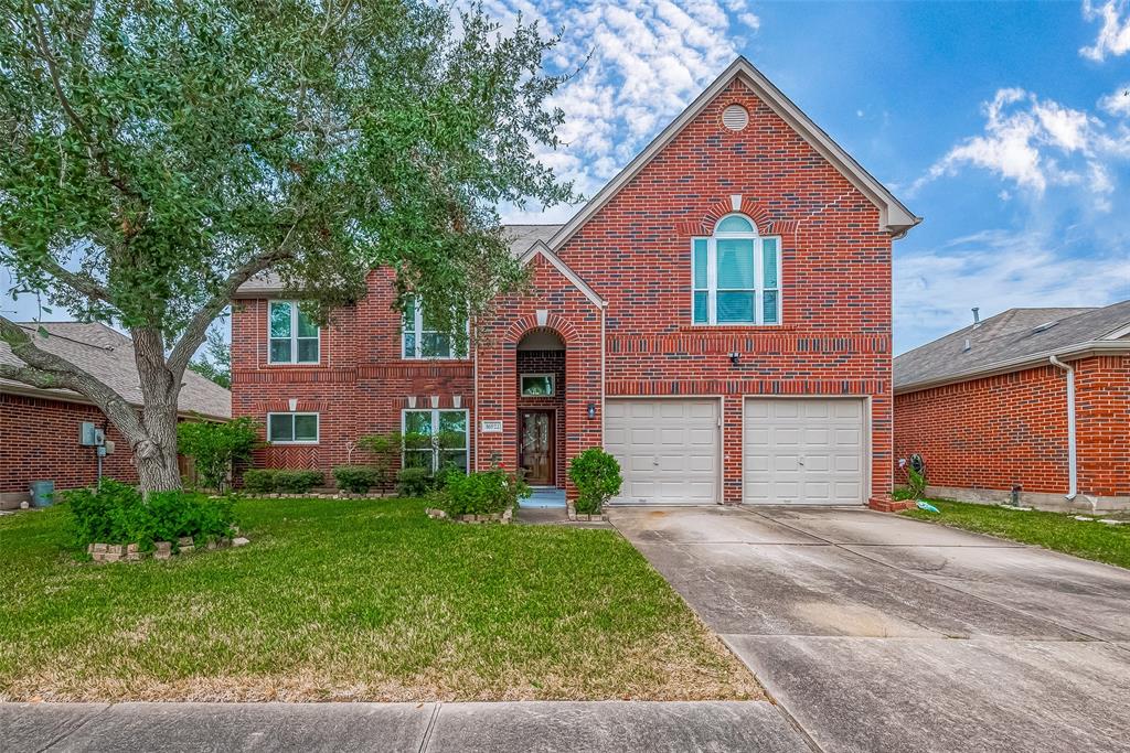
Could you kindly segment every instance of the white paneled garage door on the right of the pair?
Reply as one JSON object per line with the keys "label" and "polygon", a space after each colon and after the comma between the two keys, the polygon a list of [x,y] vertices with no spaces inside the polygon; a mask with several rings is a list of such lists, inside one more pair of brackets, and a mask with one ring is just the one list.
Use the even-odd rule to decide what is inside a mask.
{"label": "white paneled garage door on the right of the pair", "polygon": [[746,400],[745,501],[862,505],[863,401]]}

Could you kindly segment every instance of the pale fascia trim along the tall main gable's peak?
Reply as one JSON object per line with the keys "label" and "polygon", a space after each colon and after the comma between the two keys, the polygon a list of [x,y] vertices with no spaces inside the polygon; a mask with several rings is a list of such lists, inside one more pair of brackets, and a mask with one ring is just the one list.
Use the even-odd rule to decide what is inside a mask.
{"label": "pale fascia trim along the tall main gable's peak", "polygon": [[684,126],[698,116],[706,106],[714,100],[736,78],[741,78],[742,82],[767,104],[782,120],[785,121],[805,141],[816,151],[827,159],[852,185],[859,189],[876,207],[879,208],[879,225],[884,230],[892,234],[902,234],[922,221],[887,189],[879,183],[870,173],[855,161],[855,159],[844,151],[824,132],[820,126],[812,122],[800,107],[789,97],[777,89],[765,76],[754,68],[753,63],[742,56],[734,60],[725,71],[722,72],[714,82],[699,94],[686,110],[679,114],[670,125],[660,132],[647,147],[636,155],[635,159],[628,163],[627,167],[619,172],[609,181],[597,195],[594,195],[581,210],[566,222],[554,237],[549,239],[550,248],[559,248],[581,227],[596,214],[601,207],[619,193],[636,174],[642,170],[660,151],[670,143],[675,137],[683,131]]}

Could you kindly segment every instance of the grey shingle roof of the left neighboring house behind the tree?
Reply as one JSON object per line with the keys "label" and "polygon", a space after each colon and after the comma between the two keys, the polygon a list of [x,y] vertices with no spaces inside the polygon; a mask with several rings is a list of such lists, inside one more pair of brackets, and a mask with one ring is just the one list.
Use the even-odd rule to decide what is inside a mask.
{"label": "grey shingle roof of the left neighboring house behind the tree", "polygon": [[[141,386],[138,380],[133,343],[121,332],[98,323],[20,322],[18,324],[35,338],[35,344],[43,350],[66,358],[101,379],[133,405],[141,405]],[[40,326],[47,331],[46,338],[37,334]],[[12,354],[6,343],[0,343],[0,364],[26,366]],[[41,389],[11,379],[0,379],[0,392],[89,402],[70,389]],[[232,393],[195,371],[188,370],[184,373],[177,410],[181,414],[200,413],[207,418],[229,419]]]}

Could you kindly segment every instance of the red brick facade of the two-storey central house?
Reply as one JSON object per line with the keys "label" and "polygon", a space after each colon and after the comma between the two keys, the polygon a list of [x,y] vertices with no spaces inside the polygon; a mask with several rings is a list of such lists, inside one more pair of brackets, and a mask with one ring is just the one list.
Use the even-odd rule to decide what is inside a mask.
{"label": "red brick facade of the two-storey central house", "polygon": [[[722,111],[741,104],[749,125],[727,130]],[[732,211],[780,236],[782,322],[694,326],[692,238]],[[605,301],[594,304],[545,256],[530,262],[532,289],[496,301],[479,323],[469,361],[406,361],[388,272],[340,312],[322,335],[322,362],[266,362],[267,301],[233,316],[233,414],[272,410],[322,414],[314,446],[272,447],[257,462],[330,469],[346,443],[399,427],[409,396],[441,406],[457,397],[471,426],[476,464],[516,464],[518,343],[539,326],[565,342],[558,479],[577,452],[602,444],[606,396],[709,395],[723,400],[723,497],[741,501],[742,403],[754,395],[870,399],[871,496],[892,487],[892,238],[879,210],[774,111],[736,80],[715,97],[572,238],[554,249]],[[539,318],[539,312],[540,317]],[[738,353],[738,365],[730,353]],[[594,415],[590,418],[590,405]],[[560,452],[564,456],[560,456]],[[357,459],[356,457],[354,458]]]}

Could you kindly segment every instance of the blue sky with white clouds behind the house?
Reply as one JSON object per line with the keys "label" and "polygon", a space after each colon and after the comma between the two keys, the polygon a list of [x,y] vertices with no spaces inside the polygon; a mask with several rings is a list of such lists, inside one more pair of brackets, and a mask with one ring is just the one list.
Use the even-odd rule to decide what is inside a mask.
{"label": "blue sky with white clouds behind the house", "polygon": [[1130,0],[485,7],[562,28],[554,67],[591,53],[556,98],[568,147],[545,155],[586,195],[746,55],[925,218],[895,244],[896,352],[964,326],[972,306],[1130,298]]}

